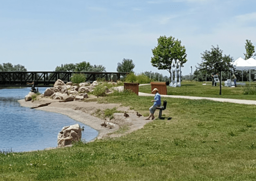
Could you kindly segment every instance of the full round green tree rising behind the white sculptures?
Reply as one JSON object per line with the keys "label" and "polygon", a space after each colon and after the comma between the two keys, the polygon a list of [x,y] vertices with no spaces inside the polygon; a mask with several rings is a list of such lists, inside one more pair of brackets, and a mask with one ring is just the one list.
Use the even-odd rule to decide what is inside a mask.
{"label": "full round green tree rising behind the white sculptures", "polygon": [[172,60],[179,59],[181,66],[187,62],[185,46],[181,45],[181,41],[172,36],[160,36],[157,39],[157,47],[152,49],[153,57],[151,57],[151,64],[159,70],[168,70],[171,75]]}

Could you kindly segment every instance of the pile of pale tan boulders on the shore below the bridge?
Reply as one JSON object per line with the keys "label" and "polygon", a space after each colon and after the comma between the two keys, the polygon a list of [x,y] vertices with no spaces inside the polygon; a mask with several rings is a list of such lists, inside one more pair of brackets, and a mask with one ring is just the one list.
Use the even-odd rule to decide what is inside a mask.
{"label": "pile of pale tan boulders on the shore below the bridge", "polygon": [[[83,100],[88,98],[87,93],[92,92],[93,88],[97,85],[103,84],[102,82],[94,81],[92,84],[90,83],[80,83],[79,85],[73,84],[72,82],[68,82],[65,84],[61,79],[57,79],[54,86],[52,88],[46,89],[42,97],[50,96],[52,99],[60,99],[60,102],[69,102],[73,100]],[[117,83],[110,83],[112,85],[117,85]],[[113,91],[109,90],[108,87],[105,86],[106,94],[110,94]],[[26,97],[25,101],[32,99],[33,92],[30,92]]]}

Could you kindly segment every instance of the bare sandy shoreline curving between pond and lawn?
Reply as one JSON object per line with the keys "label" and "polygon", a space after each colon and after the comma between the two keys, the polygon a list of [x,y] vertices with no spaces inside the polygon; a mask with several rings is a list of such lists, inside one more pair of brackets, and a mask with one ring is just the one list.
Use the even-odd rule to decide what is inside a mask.
{"label": "bare sandy shoreline curving between pond and lawn", "polygon": [[[94,97],[90,96],[89,98],[94,98]],[[83,102],[83,101],[72,101],[72,102],[61,103],[59,102],[59,100],[53,100],[51,98],[45,98],[45,97],[43,97],[40,100],[36,100],[33,103],[31,101],[25,102],[24,99],[18,100],[18,102],[19,104],[21,104],[21,106],[25,106],[25,107],[35,107],[41,104],[51,103],[48,106],[39,107],[35,109],[61,113],[69,116],[70,118],[76,120],[77,122],[81,122],[87,126],[90,126],[91,128],[99,132],[99,134],[96,137],[97,139],[102,139],[106,137],[120,137],[132,131],[142,129],[146,123],[149,123],[152,121],[152,120],[144,120],[145,117],[143,116],[137,117],[136,111],[130,110],[129,107],[123,107],[120,104],[97,104],[96,102]],[[114,113],[114,118],[111,119],[110,122],[115,124],[115,128],[109,129],[109,128],[102,127],[101,124],[104,123],[105,120],[91,115],[97,109],[105,110],[107,108],[112,109],[114,107],[116,107],[117,110],[119,111],[127,111],[127,113],[130,115],[130,117],[125,118],[124,113]],[[69,125],[66,125],[66,126],[69,126]],[[116,131],[119,130],[119,128],[122,126],[126,126],[126,127],[128,126],[128,130],[122,132],[122,134],[116,133]]]}

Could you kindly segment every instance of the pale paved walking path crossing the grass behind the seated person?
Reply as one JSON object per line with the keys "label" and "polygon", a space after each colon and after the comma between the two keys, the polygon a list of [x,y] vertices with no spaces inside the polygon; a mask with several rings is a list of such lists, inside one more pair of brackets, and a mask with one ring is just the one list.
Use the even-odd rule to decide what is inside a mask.
{"label": "pale paved walking path crossing the grass behind the seated person", "polygon": [[[144,86],[144,85],[150,85],[150,84],[141,84],[139,86]],[[119,90],[119,91],[123,91],[124,86],[114,87],[114,89]],[[154,94],[139,92],[139,96],[154,96]],[[161,97],[187,98],[187,99],[208,99],[208,100],[214,100],[214,101],[226,102],[226,103],[256,105],[256,100],[243,100],[243,99],[231,99],[231,98],[213,98],[213,97],[194,97],[194,96],[184,96],[184,95],[161,95]]]}

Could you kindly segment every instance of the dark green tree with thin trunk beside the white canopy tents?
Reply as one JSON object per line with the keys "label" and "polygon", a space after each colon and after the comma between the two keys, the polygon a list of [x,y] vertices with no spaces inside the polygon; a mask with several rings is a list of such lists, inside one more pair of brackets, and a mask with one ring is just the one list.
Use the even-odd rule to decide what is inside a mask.
{"label": "dark green tree with thin trunk beside the white canopy tents", "polygon": [[[232,66],[233,57],[230,55],[222,56],[222,50],[217,47],[211,48],[211,51],[205,50],[204,53],[201,53],[201,58],[203,59],[202,63],[199,64],[199,68],[210,72],[216,72],[221,75],[221,72],[229,72]],[[221,78],[220,78],[220,95],[221,95]]]}

